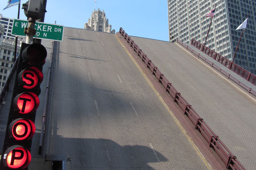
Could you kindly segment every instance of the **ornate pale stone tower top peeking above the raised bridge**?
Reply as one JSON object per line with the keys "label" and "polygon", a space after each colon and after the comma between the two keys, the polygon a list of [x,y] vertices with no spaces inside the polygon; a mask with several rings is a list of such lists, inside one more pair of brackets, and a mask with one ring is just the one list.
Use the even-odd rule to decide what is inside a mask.
{"label": "ornate pale stone tower top peeking above the raised bridge", "polygon": [[115,34],[115,30],[111,30],[111,25],[108,25],[108,19],[103,11],[93,11],[91,17],[88,19],[88,23],[84,24],[84,29],[93,31],[101,31]]}

